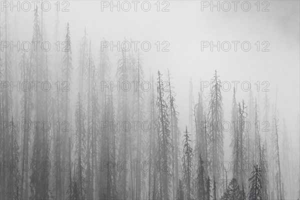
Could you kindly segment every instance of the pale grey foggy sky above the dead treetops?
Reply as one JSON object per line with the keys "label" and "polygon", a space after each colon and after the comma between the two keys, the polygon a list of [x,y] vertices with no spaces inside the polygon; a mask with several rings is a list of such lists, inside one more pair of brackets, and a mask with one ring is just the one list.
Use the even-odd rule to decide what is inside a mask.
{"label": "pale grey foggy sky above the dead treetops", "polygon": [[[54,27],[56,10],[55,1],[51,1],[50,11],[43,12],[46,31],[45,40],[54,41]],[[174,90],[177,93],[179,122],[181,132],[183,126],[188,125],[188,88],[189,79],[193,81],[195,100],[200,87],[200,78],[210,80],[214,69],[218,71],[221,81],[246,81],[251,79],[253,94],[260,103],[263,111],[262,99],[264,92],[257,92],[256,81],[268,81],[270,91],[270,106],[274,103],[275,91],[277,94],[277,107],[279,108],[279,124],[285,118],[292,141],[297,145],[298,152],[299,132],[295,127],[299,121],[299,1],[275,0],[268,1],[268,12],[256,11],[254,2],[251,2],[250,11],[242,11],[240,4],[237,11],[210,11],[209,7],[201,11],[201,2],[196,0],[170,0],[167,12],[156,11],[154,3],[150,1],[151,9],[142,11],[140,4],[137,11],[131,7],[130,11],[110,11],[109,7],[101,11],[101,2],[97,0],[71,0],[68,1],[69,11],[58,12],[60,41],[65,34],[66,23],[69,22],[71,33],[71,48],[73,59],[73,77],[71,88],[73,94],[77,92],[77,67],[79,41],[83,37],[86,27],[88,38],[92,41],[92,50],[95,63],[98,63],[100,41],[104,37],[115,43],[123,41],[124,37],[130,40],[150,41],[152,47],[148,52],[142,52],[144,59],[145,78],[153,73],[156,77],[157,69],[166,75],[167,68],[172,74]],[[108,1],[110,2],[110,1]],[[129,1],[131,2],[131,1]],[[214,1],[216,2],[216,1]],[[231,2],[231,1],[229,1]],[[131,3],[131,5],[133,5]],[[233,5],[233,4],[231,4]],[[33,7],[30,11],[12,11],[10,17],[14,24],[11,25],[11,34],[20,41],[32,38]],[[15,29],[17,26],[17,29]],[[53,27],[53,28],[52,28]],[[235,52],[201,51],[201,41],[232,41],[247,40],[251,43],[251,50],[242,51],[240,45]],[[168,41],[169,52],[156,51],[156,41]],[[268,41],[269,52],[257,52],[254,43]],[[52,42],[55,43],[55,42]],[[51,44],[52,44],[51,43]],[[54,47],[54,45],[52,45]],[[231,46],[233,47],[233,46]],[[215,48],[214,48],[215,49]],[[109,52],[112,63],[112,78],[116,69],[118,52]],[[51,59],[51,54],[50,54]],[[166,76],[164,76],[166,77]],[[261,86],[261,84],[260,84]],[[232,84],[233,87],[233,84]],[[261,87],[260,87],[261,88]],[[204,90],[206,95],[207,89]],[[230,120],[231,101],[233,88],[228,92],[222,91],[224,120]],[[236,97],[248,100],[248,92],[242,91],[238,84]],[[282,126],[279,126],[282,128]],[[231,154],[228,148],[229,132],[225,134],[225,158]],[[293,139],[295,138],[295,139]],[[293,145],[293,146],[295,146]]]}

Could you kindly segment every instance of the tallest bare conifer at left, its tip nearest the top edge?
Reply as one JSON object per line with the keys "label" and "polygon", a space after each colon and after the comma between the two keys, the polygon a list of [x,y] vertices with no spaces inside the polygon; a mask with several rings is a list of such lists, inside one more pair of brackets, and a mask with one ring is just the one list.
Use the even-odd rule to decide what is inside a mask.
{"label": "tallest bare conifer at left, its tip nearest the top edge", "polygon": [[[42,17],[41,17],[42,21]],[[34,11],[33,21],[33,36],[32,41],[43,41],[42,22],[39,22],[37,14],[37,8]],[[37,49],[32,49],[30,52],[30,59],[32,64],[32,70],[34,71],[35,81],[42,82],[48,79],[48,60],[47,54],[42,51],[41,46]],[[33,96],[35,97],[35,121],[47,121],[48,118],[48,91],[41,90],[38,88],[34,91]],[[32,162],[39,161],[39,163],[48,161],[49,153],[49,140],[48,140],[48,129],[45,129],[40,124],[35,125],[33,133],[33,144],[32,144]],[[32,171],[30,176],[30,198],[33,199],[48,199],[48,170],[42,170],[36,162],[36,170]]]}

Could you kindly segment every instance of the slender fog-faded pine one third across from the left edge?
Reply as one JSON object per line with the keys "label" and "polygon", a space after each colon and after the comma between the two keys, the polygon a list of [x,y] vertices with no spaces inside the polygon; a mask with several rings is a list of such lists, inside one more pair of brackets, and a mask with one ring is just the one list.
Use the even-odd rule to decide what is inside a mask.
{"label": "slender fog-faded pine one third across from the left edge", "polygon": [[[98,186],[96,187],[96,193],[98,193],[99,199],[104,199],[105,197],[109,199],[111,196],[109,194],[109,190],[113,188],[112,198],[116,198],[116,174],[114,171],[107,171],[111,168],[110,159],[112,163],[115,160],[115,131],[114,127],[102,127],[106,126],[106,123],[114,123],[114,108],[112,103],[112,94],[110,95],[109,87],[106,87],[110,83],[108,80],[110,79],[110,61],[108,58],[108,49],[103,46],[105,39],[101,41],[100,51],[99,51],[99,65],[98,65],[98,77],[97,84],[100,87],[100,92],[98,92],[98,101],[99,101],[99,111],[101,112],[101,124],[100,124],[100,134],[98,135],[97,140],[97,160],[98,164],[98,175],[96,177],[96,181],[98,182]],[[109,126],[109,125],[108,125]],[[110,147],[110,148],[109,148]],[[110,156],[109,156],[110,154]],[[107,168],[101,166],[103,164],[107,164]],[[112,178],[110,177],[112,175]],[[104,178],[99,178],[104,177]],[[111,179],[110,179],[111,178]],[[109,181],[110,180],[110,181]]]}

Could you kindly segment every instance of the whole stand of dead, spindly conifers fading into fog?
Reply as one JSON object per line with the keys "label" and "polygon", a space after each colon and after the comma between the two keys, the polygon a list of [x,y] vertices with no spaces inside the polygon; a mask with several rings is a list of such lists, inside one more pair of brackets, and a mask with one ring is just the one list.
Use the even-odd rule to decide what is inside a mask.
{"label": "whole stand of dead, spindly conifers fading into fog", "polygon": [[[33,13],[28,40],[44,41],[42,12]],[[87,29],[80,30],[77,48],[70,25],[59,31],[66,51],[51,56],[40,48],[0,52],[0,199],[299,198],[299,157],[292,154],[287,134],[293,128],[285,125],[268,92],[259,107],[251,90],[245,100],[232,91],[231,118],[226,120],[235,126],[230,129],[230,160],[224,160],[222,76],[217,70],[206,77],[212,81],[208,92],[200,89],[193,97],[190,83],[189,102],[180,105],[189,112],[189,124],[180,127],[171,67],[145,75],[141,53],[121,50],[111,74],[107,49],[92,52]],[[2,12],[1,41],[13,39],[11,27],[9,13]],[[136,81],[137,87],[103,87],[111,80]],[[7,81],[63,84],[16,92],[3,86]],[[149,89],[141,89],[143,81]],[[69,90],[72,82],[79,86]],[[40,125],[43,121],[51,128]],[[258,121],[269,121],[269,130],[261,131]],[[124,122],[131,126],[121,126]],[[31,128],[21,126],[27,123]]]}

